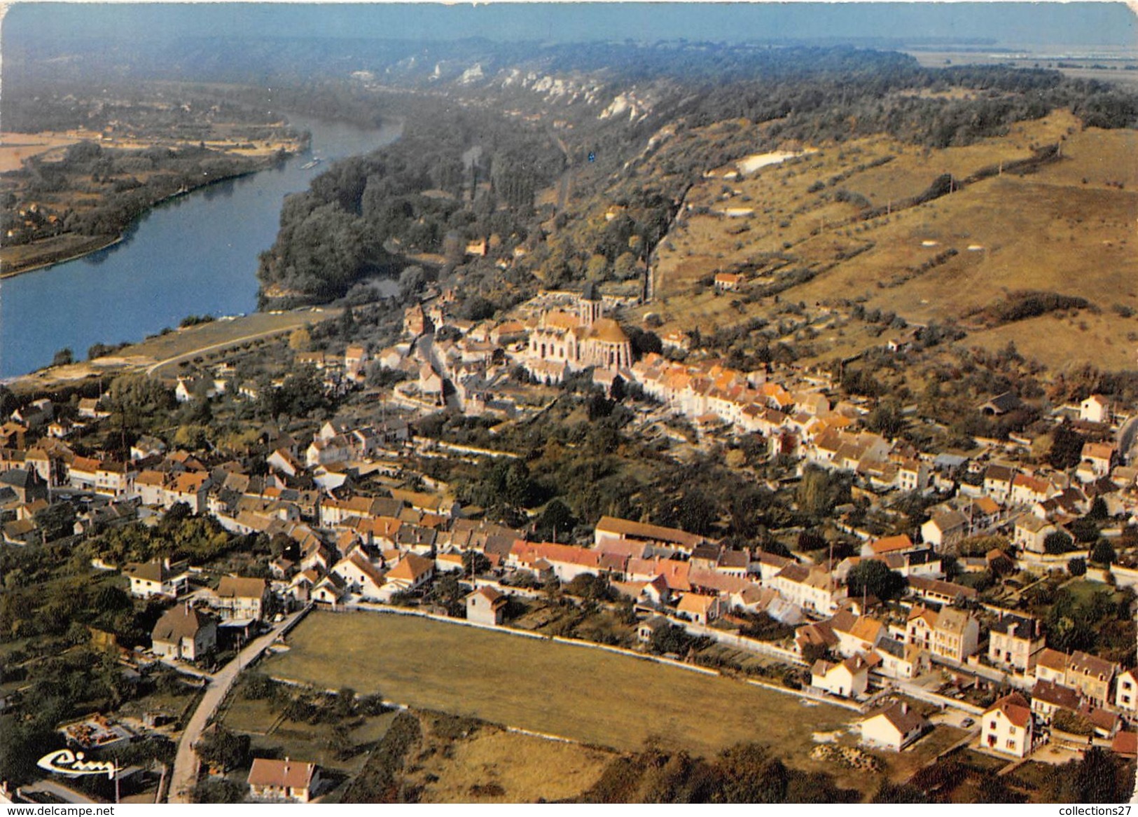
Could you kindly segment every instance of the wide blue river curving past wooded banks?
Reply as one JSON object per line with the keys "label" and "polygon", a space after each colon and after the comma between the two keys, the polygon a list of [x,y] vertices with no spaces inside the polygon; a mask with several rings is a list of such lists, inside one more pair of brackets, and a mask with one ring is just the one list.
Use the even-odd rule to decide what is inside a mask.
{"label": "wide blue river curving past wooded banks", "polygon": [[[311,154],[165,201],[118,244],[0,281],[0,378],[26,374],[69,347],[142,340],[187,315],[256,310],[257,257],[272,246],[284,196],[307,189],[332,159],[398,139],[401,125],[357,127],[290,116]],[[323,160],[305,168],[313,156]]]}

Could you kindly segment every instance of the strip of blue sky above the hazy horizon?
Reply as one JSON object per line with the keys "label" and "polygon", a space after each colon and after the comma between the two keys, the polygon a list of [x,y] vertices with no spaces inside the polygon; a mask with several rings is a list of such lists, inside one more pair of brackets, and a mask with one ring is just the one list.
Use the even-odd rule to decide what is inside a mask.
{"label": "strip of blue sky above the hazy horizon", "polygon": [[14,2],[5,38],[264,38],[550,42],[948,41],[1138,46],[1123,2],[99,3]]}

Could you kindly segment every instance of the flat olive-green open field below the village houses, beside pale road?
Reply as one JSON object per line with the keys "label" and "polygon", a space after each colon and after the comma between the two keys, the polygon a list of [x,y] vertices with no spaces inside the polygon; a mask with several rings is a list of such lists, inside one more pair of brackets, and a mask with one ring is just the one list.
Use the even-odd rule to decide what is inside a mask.
{"label": "flat olive-green open field below the village houses, beside pale road", "polygon": [[413,616],[314,612],[289,644],[264,672],[626,751],[650,736],[703,756],[754,741],[801,766],[811,733],[856,718],[720,676]]}

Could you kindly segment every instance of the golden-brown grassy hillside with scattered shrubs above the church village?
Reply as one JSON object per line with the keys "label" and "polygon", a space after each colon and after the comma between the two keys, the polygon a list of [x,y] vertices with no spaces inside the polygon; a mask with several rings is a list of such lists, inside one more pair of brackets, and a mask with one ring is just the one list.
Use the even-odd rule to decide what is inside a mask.
{"label": "golden-brown grassy hillside with scattered shrubs above the church village", "polygon": [[[703,134],[714,135],[714,126]],[[1040,150],[1032,162],[1055,143],[1056,155]],[[745,176],[708,168],[687,192],[658,249],[657,299],[642,311],[662,319],[659,332],[769,319],[776,295],[783,304],[857,300],[909,322],[955,321],[970,344],[1014,341],[1049,366],[1133,366],[1138,320],[1124,317],[1138,311],[1133,131],[1082,129],[1057,110],[967,147],[882,138],[810,147]],[[946,173],[953,192],[918,204]],[[708,286],[716,272],[747,283],[717,295]],[[1023,290],[1089,305],[1008,320],[1017,315],[1000,305]],[[855,350],[833,340],[836,352]]]}

